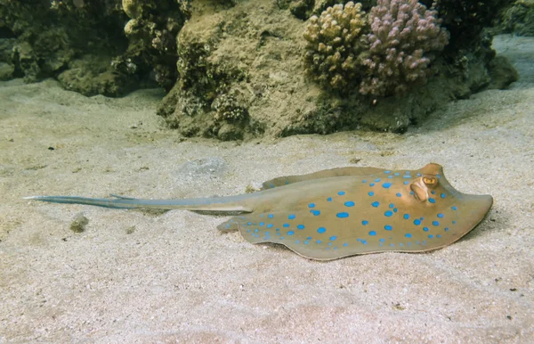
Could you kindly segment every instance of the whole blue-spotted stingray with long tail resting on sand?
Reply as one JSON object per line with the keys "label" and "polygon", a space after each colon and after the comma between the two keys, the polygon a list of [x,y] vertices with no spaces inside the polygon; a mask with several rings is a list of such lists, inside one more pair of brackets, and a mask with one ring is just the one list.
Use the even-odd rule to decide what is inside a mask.
{"label": "whole blue-spotted stingray with long tail resting on sand", "polygon": [[219,225],[248,242],[274,242],[328,260],[383,251],[423,252],[456,242],[490,211],[490,195],[458,192],[438,164],[417,170],[333,168],[263,183],[260,192],[184,200],[34,196],[119,209],[239,211]]}

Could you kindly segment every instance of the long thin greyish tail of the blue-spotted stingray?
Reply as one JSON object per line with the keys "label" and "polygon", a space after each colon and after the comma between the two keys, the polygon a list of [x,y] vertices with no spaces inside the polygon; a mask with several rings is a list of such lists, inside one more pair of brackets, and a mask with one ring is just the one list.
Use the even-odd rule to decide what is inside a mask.
{"label": "long thin greyish tail of the blue-spotted stingray", "polygon": [[52,203],[85,204],[115,209],[187,209],[211,211],[252,211],[245,205],[248,195],[194,198],[183,200],[142,200],[112,194],[113,198],[87,198],[77,196],[30,196],[25,200]]}

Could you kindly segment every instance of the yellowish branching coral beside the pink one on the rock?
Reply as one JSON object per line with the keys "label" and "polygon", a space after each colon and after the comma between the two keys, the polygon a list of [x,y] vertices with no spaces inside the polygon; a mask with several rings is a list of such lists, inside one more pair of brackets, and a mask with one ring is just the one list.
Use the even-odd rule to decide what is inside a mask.
{"label": "yellowish branching coral beside the pink one on the rock", "polygon": [[308,41],[304,67],[324,86],[342,89],[358,78],[358,56],[365,48],[366,27],[361,4],[349,2],[328,7],[320,17],[312,16],[304,32]]}

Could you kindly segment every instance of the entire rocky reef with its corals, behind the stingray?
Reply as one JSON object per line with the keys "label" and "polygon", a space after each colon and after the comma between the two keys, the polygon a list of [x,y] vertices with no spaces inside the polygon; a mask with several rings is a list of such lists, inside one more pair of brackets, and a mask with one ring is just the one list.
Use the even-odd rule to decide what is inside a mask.
{"label": "entire rocky reef with its corals, behind the stingray", "polygon": [[[0,0],[0,78],[112,96],[157,81],[169,91],[158,115],[188,136],[403,132],[516,78],[482,30],[514,1],[531,2],[380,0],[371,11],[376,0]],[[451,37],[430,64],[446,43],[438,17]]]}

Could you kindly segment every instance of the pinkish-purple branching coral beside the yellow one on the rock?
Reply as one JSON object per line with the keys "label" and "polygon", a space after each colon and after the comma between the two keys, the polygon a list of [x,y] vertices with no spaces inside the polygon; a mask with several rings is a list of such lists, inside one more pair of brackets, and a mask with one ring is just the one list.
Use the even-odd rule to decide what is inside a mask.
{"label": "pinkish-purple branching coral beside the yellow one on the rock", "polygon": [[368,57],[361,94],[403,94],[410,85],[424,84],[433,53],[449,42],[437,12],[416,0],[378,0],[369,12]]}

